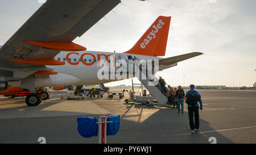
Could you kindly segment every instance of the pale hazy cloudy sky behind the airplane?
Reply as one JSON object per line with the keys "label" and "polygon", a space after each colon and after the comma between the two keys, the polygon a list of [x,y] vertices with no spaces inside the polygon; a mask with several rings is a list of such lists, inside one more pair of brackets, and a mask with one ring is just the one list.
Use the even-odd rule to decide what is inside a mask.
{"label": "pale hazy cloudy sky behind the airplane", "polygon": [[[43,0],[0,0],[0,45]],[[123,0],[73,42],[88,51],[126,52],[159,15],[172,16],[166,55],[204,55],[158,72],[171,86],[253,86],[256,81],[255,0]],[[134,79],[135,82],[138,79]],[[131,85],[131,79],[106,86]]]}

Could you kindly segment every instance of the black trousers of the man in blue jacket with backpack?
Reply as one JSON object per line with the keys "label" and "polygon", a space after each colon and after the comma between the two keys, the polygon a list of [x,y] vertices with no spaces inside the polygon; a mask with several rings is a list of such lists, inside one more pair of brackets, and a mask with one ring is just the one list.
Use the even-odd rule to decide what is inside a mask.
{"label": "black trousers of the man in blue jacket with backpack", "polygon": [[[194,123],[195,115],[195,123]],[[189,125],[191,130],[199,129],[199,106],[188,107]]]}

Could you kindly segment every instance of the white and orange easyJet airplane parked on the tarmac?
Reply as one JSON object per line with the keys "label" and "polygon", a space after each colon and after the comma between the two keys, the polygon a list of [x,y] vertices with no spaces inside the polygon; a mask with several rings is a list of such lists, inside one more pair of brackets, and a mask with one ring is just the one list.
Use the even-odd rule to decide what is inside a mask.
{"label": "white and orange easyJet airplane parked on the tarmac", "polygon": [[[98,79],[100,60],[159,60],[159,70],[202,55],[165,56],[171,16],[159,16],[129,51],[123,53],[86,51],[72,41],[117,6],[119,0],[48,0],[0,48],[0,90],[20,87],[31,91],[28,106],[42,102],[37,87],[108,83],[119,79]],[[47,93],[47,91],[44,91]]]}

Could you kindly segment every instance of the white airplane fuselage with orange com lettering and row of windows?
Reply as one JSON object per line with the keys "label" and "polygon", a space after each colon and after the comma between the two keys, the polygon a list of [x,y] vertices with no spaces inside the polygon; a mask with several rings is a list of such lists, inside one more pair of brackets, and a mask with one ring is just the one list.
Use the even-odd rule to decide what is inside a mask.
{"label": "white airplane fuselage with orange com lettering and row of windows", "polygon": [[[66,85],[98,85],[99,83],[108,83],[118,81],[119,79],[102,79],[97,76],[99,60],[108,59],[108,61],[128,60],[129,57],[138,58],[138,60],[159,60],[158,57],[131,55],[125,53],[114,52],[60,52],[55,56],[55,60],[65,61],[65,65],[47,66],[57,72],[56,75],[49,76],[50,78],[36,78],[35,85],[39,86],[66,86]],[[68,59],[68,61],[67,61]],[[117,70],[119,66],[115,67]]]}

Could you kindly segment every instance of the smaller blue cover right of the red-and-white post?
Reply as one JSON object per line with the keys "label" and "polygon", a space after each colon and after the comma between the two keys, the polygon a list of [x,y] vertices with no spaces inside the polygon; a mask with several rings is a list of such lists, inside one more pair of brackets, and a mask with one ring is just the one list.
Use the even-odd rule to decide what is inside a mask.
{"label": "smaller blue cover right of the red-and-white post", "polygon": [[116,135],[120,128],[120,115],[111,115],[107,119],[108,122],[112,121],[112,123],[107,124],[107,135]]}

